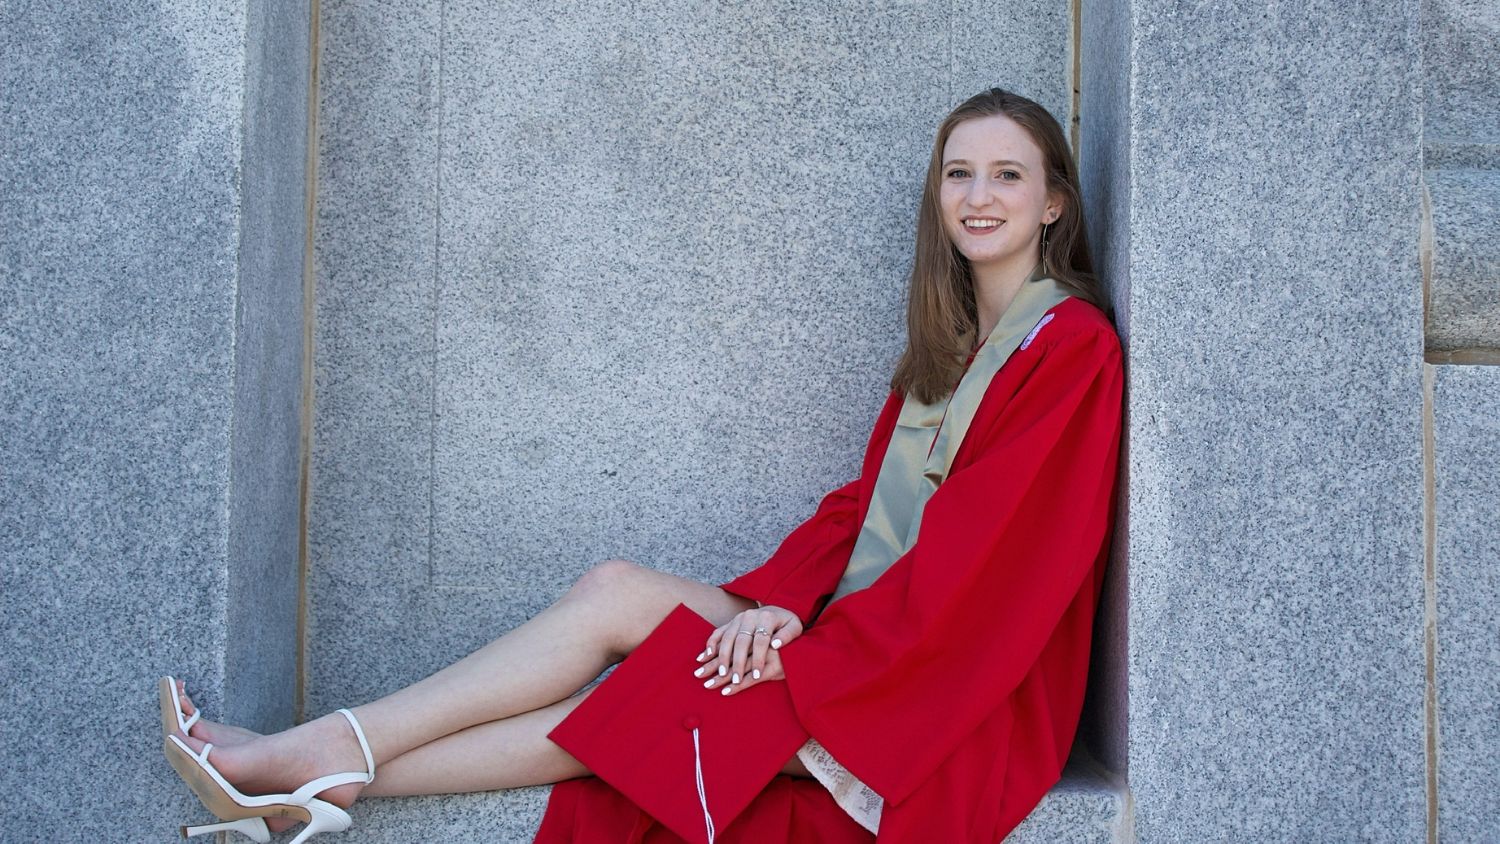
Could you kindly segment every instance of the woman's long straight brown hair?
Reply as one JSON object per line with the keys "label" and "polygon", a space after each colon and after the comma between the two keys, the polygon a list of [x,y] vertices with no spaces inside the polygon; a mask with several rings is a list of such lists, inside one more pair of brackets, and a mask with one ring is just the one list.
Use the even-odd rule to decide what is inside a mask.
{"label": "woman's long straight brown hair", "polygon": [[1047,274],[1058,279],[1070,294],[1108,312],[1100,282],[1094,277],[1088,232],[1083,228],[1078,172],[1062,127],[1046,108],[1020,94],[1004,88],[978,93],[952,109],[938,126],[932,160],[927,162],[922,204],[916,214],[916,256],[906,303],[906,351],[896,364],[891,390],[915,394],[922,402],[936,402],[952,391],[974,348],[980,324],[969,259],[952,244],[942,225],[942,150],[957,124],[996,114],[1018,123],[1041,147],[1047,192],[1064,201],[1058,220],[1047,228],[1042,256]]}

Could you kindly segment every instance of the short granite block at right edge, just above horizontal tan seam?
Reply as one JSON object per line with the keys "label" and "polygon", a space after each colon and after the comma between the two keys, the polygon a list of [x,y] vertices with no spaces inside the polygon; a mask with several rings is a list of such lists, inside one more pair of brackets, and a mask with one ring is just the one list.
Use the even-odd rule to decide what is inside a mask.
{"label": "short granite block at right edge, just above horizontal tan seam", "polygon": [[1500,346],[1500,169],[1426,171],[1428,351]]}

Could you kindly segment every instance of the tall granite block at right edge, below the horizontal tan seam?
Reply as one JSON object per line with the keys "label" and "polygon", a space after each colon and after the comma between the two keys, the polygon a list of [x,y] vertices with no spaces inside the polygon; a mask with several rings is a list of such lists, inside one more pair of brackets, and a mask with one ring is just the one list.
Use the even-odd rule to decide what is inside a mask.
{"label": "tall granite block at right edge, below the horizontal tan seam", "polygon": [[1500,366],[1432,367],[1438,838],[1500,831]]}

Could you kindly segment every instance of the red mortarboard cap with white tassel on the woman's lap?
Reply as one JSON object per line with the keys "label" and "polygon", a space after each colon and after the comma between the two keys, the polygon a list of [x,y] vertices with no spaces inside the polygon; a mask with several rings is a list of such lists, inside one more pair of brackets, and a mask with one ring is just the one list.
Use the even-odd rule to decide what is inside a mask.
{"label": "red mortarboard cap with white tassel on the woman's lap", "polygon": [[548,733],[672,832],[705,844],[808,736],[783,681],[729,696],[704,688],[693,672],[712,631],[678,604]]}

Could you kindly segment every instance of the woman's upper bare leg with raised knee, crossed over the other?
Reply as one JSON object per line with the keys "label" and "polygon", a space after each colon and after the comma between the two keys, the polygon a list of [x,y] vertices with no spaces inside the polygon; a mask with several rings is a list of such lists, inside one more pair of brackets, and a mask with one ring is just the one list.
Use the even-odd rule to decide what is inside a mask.
{"label": "woman's upper bare leg with raised knee, crossed over the other", "polygon": [[[633,651],[678,603],[716,625],[754,606],[717,586],[626,561],[604,561],[531,621],[428,679],[358,706],[354,712],[381,777],[388,775],[384,768],[392,760],[442,736],[564,702]],[[555,718],[554,724],[561,715]],[[490,727],[486,736],[502,739],[522,726],[536,730],[537,724],[531,720]],[[550,744],[544,739],[548,730],[540,735]],[[196,739],[189,744],[195,750],[202,747]],[[364,765],[352,730],[338,714],[216,747],[212,760],[246,793],[290,792],[322,774],[362,771]],[[544,771],[552,762],[530,765]],[[484,768],[494,766],[494,757],[488,757]],[[360,789],[340,786],[320,796],[346,807]]]}

